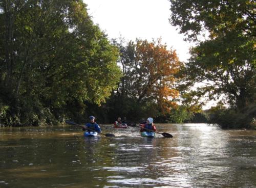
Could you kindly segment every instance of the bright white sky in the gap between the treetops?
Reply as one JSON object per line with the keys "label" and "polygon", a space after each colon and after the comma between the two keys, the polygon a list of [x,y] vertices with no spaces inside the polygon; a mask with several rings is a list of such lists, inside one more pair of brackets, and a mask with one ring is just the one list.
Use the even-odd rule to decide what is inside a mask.
{"label": "bright white sky in the gap between the treetops", "polygon": [[98,24],[109,38],[124,37],[126,41],[140,38],[152,41],[162,38],[168,49],[176,50],[181,61],[189,58],[190,43],[183,41],[170,25],[168,0],[83,0],[94,23]]}

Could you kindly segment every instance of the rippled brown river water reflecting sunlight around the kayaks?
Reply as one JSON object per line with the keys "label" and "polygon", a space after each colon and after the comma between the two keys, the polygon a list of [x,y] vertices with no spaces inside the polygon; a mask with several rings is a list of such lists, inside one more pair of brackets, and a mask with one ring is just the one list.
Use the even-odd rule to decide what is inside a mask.
{"label": "rippled brown river water reflecting sunlight around the kayaks", "polygon": [[256,131],[156,124],[84,138],[80,128],[0,128],[0,187],[256,187]]}

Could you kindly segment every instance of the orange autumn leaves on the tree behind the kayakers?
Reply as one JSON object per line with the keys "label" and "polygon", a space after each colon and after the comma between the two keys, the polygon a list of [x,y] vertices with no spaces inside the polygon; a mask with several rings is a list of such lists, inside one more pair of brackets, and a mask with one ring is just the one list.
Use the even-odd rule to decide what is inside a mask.
{"label": "orange autumn leaves on the tree behind the kayakers", "polygon": [[137,77],[135,80],[140,91],[138,99],[153,99],[161,111],[169,112],[170,107],[175,105],[170,100],[178,97],[179,92],[175,90],[174,84],[177,81],[175,74],[182,66],[176,51],[166,49],[157,42],[137,40],[135,45],[135,64]]}

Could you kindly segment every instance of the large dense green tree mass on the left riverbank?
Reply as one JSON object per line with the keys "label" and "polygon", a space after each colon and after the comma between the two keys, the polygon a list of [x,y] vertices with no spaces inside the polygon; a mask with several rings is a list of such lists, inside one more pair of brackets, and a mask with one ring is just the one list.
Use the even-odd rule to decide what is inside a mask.
{"label": "large dense green tree mass on the left riverbank", "polygon": [[0,20],[0,103],[18,117],[7,124],[83,113],[116,88],[118,49],[82,1],[2,1]]}

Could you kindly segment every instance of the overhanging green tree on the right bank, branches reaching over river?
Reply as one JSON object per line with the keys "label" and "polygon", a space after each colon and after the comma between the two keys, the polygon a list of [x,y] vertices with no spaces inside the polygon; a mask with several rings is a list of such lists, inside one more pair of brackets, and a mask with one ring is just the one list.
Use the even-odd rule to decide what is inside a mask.
{"label": "overhanging green tree on the right bank, branches reaching over river", "polygon": [[[194,92],[199,98],[216,99],[243,109],[256,100],[255,3],[233,1],[173,1],[170,23],[190,41],[208,31],[205,41],[190,50],[185,65],[185,85],[205,82]],[[199,99],[197,98],[197,99]]]}

